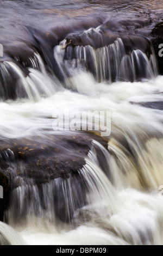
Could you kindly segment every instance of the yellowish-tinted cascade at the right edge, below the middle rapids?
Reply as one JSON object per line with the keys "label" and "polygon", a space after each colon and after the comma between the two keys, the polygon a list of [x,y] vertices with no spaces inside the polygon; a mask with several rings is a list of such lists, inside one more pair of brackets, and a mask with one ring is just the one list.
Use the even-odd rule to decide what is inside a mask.
{"label": "yellowish-tinted cascade at the right edge, below the middle rapids", "polygon": [[128,145],[134,152],[134,157],[116,140],[111,140],[108,145],[111,153],[110,168],[120,175],[121,182],[117,179],[117,187],[133,186],[157,190],[163,183],[162,139],[153,138],[145,144],[140,141],[133,144],[128,137]]}

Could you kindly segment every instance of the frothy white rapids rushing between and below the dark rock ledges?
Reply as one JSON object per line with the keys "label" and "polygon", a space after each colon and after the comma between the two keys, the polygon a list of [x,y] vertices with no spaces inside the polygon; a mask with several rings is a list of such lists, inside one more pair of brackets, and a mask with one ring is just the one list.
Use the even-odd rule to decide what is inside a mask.
{"label": "frothy white rapids rushing between and below the dark rock ledges", "polygon": [[[73,92],[47,74],[40,76],[40,71],[33,68],[30,71],[28,79],[23,81],[29,99],[0,103],[1,136],[43,136],[45,129],[52,129],[53,113],[64,112],[65,108],[107,110],[111,111],[109,151],[97,142],[92,143],[80,172],[89,187],[89,203],[76,212],[70,224],[52,224],[46,217],[28,215],[27,224],[20,226],[10,217],[13,229],[0,223],[3,238],[19,245],[162,245],[163,197],[159,194],[159,186],[163,185],[162,111],[130,102],[163,101],[163,76],[108,84],[97,83],[89,72],[80,70],[70,78],[69,85],[76,89]],[[37,84],[38,88],[41,85],[42,93]],[[134,157],[121,143],[123,140]],[[99,166],[94,145],[105,155],[105,173]],[[106,176],[107,170],[112,184]],[[55,186],[52,182],[48,190],[51,185]],[[65,195],[69,185],[63,185]],[[68,193],[71,198],[71,189]]]}

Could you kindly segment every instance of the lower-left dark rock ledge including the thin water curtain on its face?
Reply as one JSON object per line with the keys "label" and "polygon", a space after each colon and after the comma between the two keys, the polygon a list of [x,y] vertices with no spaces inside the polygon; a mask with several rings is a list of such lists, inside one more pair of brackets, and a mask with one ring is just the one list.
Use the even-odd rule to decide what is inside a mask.
{"label": "lower-left dark rock ledge including the thin water curtain on its face", "polygon": [[74,211],[87,203],[88,188],[80,170],[92,139],[107,148],[105,139],[86,132],[1,140],[0,168],[11,175],[10,214],[14,221],[32,214],[47,215],[51,221],[71,220]]}

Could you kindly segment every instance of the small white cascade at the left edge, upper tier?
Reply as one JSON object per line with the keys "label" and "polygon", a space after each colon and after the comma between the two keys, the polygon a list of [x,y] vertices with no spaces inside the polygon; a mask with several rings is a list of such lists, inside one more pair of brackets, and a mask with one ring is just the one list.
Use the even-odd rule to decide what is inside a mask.
{"label": "small white cascade at the left edge, upper tier", "polygon": [[[22,68],[17,63],[0,63],[0,98],[3,100],[27,98],[39,100],[51,96],[58,90],[57,78],[50,77],[39,54],[29,58],[30,66]],[[14,86],[13,86],[14,84]]]}

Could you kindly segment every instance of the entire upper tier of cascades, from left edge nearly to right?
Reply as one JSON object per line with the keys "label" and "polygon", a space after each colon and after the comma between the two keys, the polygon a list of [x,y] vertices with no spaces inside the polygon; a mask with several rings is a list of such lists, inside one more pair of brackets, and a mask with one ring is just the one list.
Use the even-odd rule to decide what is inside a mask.
{"label": "entire upper tier of cascades, from left edge nearly to right", "polygon": [[43,59],[35,52],[27,62],[21,63],[15,58],[0,63],[0,97],[2,100],[39,100],[55,94],[62,86],[74,89],[70,78],[81,72],[89,72],[97,82],[150,80],[158,74],[152,46],[150,51],[152,54],[141,50],[127,52],[121,38],[98,48],[91,45],[73,47],[63,40],[54,47],[60,82],[54,74],[48,74]]}

